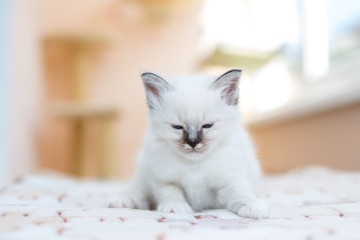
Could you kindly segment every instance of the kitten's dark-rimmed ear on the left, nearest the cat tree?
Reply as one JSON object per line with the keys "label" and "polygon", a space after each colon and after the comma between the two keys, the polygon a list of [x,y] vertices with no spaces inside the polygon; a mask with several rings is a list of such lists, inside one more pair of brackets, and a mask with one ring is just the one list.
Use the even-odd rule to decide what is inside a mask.
{"label": "kitten's dark-rimmed ear on the left, nearest the cat tree", "polygon": [[163,99],[163,94],[171,89],[169,83],[158,75],[145,72],[141,74],[146,91],[146,101],[150,109],[156,108]]}

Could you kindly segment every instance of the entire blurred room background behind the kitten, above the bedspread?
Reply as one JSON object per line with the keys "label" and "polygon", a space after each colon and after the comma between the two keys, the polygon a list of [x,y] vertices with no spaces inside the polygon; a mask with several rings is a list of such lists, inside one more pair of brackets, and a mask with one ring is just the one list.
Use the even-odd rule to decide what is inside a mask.
{"label": "entire blurred room background behind the kitten, above the bedspread", "polygon": [[144,71],[242,68],[265,172],[360,170],[356,0],[2,0],[0,185],[29,172],[134,173]]}

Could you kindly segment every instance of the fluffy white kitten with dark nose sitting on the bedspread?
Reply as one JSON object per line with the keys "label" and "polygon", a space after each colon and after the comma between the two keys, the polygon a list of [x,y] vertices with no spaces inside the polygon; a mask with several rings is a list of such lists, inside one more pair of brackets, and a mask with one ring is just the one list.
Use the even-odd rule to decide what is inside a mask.
{"label": "fluffy white kitten with dark nose sitting on the bedspread", "polygon": [[260,167],[237,108],[241,70],[217,79],[188,76],[166,81],[142,74],[150,129],[131,189],[109,207],[192,213],[226,208],[267,218],[254,195]]}

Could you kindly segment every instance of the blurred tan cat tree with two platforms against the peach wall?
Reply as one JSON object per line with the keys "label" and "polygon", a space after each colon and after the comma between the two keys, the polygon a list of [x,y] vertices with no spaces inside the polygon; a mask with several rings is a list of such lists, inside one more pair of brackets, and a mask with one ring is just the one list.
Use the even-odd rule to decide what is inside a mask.
{"label": "blurred tan cat tree with two platforms against the peach wall", "polygon": [[46,40],[62,44],[71,51],[71,101],[59,102],[54,106],[53,113],[57,117],[68,119],[74,126],[74,160],[73,170],[76,175],[84,175],[85,166],[85,122],[95,119],[100,124],[100,169],[101,176],[111,175],[113,169],[111,154],[111,124],[117,116],[117,108],[109,105],[88,103],[86,87],[90,72],[90,54],[99,46],[107,45],[108,36],[99,34],[54,34]]}

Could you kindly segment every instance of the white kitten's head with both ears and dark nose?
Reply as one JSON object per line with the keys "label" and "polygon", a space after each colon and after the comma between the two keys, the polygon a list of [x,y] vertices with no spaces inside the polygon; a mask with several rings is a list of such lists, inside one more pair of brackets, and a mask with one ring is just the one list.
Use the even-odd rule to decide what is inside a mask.
{"label": "white kitten's head with both ears and dark nose", "polygon": [[157,141],[189,160],[221,145],[238,122],[240,74],[236,69],[216,79],[186,76],[171,81],[142,74]]}

